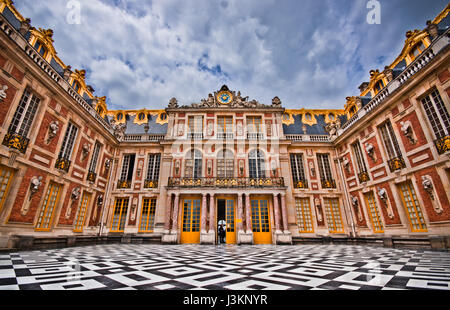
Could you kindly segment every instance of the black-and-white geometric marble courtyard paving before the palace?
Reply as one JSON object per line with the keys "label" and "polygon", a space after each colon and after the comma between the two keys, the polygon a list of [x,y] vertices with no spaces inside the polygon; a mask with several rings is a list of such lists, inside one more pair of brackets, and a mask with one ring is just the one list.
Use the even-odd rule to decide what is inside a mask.
{"label": "black-and-white geometric marble courtyard paving before the palace", "polygon": [[365,246],[98,245],[0,255],[0,290],[450,289],[450,253]]}

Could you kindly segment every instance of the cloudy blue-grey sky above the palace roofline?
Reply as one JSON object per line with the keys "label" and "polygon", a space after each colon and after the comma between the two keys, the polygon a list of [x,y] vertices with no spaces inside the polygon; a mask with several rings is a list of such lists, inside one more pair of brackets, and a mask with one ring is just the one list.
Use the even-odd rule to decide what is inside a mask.
{"label": "cloudy blue-grey sky above the palace roofline", "polygon": [[[371,69],[403,48],[445,0],[16,0],[36,28],[54,30],[59,57],[87,71],[109,109],[199,102],[223,84],[287,108],[343,108]],[[72,3],[81,7],[73,24]],[[68,18],[69,17],[69,18]]]}

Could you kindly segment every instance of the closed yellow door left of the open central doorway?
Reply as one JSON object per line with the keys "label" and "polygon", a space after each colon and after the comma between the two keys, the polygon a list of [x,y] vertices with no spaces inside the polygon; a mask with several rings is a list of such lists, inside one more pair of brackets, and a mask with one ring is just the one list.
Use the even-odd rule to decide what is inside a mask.
{"label": "closed yellow door left of the open central doorway", "polygon": [[200,243],[200,199],[184,199],[181,243]]}

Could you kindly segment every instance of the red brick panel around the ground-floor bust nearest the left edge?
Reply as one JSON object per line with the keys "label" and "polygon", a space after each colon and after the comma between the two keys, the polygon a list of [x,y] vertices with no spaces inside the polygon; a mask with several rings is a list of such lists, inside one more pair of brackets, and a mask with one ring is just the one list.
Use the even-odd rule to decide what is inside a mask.
{"label": "red brick panel around the ground-floor bust nearest the left edge", "polygon": [[[39,191],[33,196],[31,200],[28,213],[23,216],[21,209],[24,203],[28,203],[28,189],[30,188],[30,182],[33,177],[42,177],[42,184],[39,187]],[[11,210],[8,222],[14,223],[29,223],[33,224],[36,217],[37,210],[40,206],[41,198],[44,195],[44,190],[47,189],[47,173],[45,171],[30,167],[26,170],[22,182],[19,185],[19,191],[16,195],[13,208]]]}

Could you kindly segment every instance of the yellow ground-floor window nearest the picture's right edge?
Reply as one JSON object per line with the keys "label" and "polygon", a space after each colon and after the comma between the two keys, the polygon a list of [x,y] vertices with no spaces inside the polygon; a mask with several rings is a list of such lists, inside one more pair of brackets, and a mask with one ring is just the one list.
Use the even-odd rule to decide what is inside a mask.
{"label": "yellow ground-floor window nearest the picture's right edge", "polygon": [[402,196],[403,206],[408,214],[409,224],[411,225],[412,232],[426,232],[427,225],[422,213],[422,209],[417,199],[416,191],[411,183],[400,184],[400,193]]}

